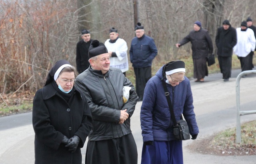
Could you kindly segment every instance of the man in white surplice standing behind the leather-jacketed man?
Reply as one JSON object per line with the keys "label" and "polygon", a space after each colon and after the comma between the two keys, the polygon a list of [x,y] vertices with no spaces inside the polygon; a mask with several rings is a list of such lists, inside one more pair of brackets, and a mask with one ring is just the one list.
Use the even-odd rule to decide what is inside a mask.
{"label": "man in white surplice standing behind the leather-jacketed man", "polygon": [[117,29],[111,28],[109,30],[110,39],[107,39],[105,46],[110,55],[110,67],[116,67],[122,70],[124,75],[129,69],[127,56],[127,43],[124,39],[119,38]]}

